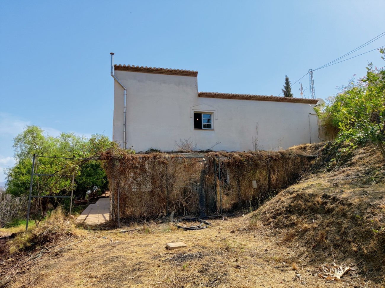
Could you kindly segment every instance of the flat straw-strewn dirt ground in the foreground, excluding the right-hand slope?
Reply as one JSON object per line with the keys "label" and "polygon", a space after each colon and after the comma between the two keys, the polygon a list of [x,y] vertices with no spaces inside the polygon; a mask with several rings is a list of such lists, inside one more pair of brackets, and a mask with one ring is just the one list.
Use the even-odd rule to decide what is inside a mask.
{"label": "flat straw-strewn dirt ground in the foreground, excluding the right-hand slope", "polygon": [[[261,231],[246,230],[249,215],[211,223],[194,231],[175,230],[169,223],[127,233],[79,230],[77,237],[46,245],[47,253],[22,264],[8,287],[367,286],[354,272],[325,283],[316,275],[323,263]],[[179,241],[187,247],[166,250],[166,243]],[[5,269],[11,262],[0,265]]]}

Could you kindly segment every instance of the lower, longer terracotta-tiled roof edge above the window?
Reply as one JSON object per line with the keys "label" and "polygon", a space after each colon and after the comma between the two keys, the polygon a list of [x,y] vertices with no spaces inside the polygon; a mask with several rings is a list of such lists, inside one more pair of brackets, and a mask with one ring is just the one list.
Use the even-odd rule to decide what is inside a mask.
{"label": "lower, longer terracotta-tiled roof edge above the window", "polygon": [[316,99],[278,97],[273,95],[264,96],[264,95],[250,95],[250,94],[199,92],[198,97],[317,104]]}

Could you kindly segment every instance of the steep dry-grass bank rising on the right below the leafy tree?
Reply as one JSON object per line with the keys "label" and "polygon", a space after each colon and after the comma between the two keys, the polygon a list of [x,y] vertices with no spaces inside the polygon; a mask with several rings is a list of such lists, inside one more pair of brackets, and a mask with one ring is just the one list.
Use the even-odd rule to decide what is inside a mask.
{"label": "steep dry-grass bank rising on the right below the leafy tree", "polygon": [[362,261],[361,275],[384,280],[383,169],[377,149],[358,149],[336,169],[321,167],[278,194],[256,211],[250,225],[323,262]]}

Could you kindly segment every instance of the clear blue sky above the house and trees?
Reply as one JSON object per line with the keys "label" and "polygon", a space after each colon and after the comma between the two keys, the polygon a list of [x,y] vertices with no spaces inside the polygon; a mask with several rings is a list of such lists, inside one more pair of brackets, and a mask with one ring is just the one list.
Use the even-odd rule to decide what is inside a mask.
{"label": "clear blue sky above the house and trees", "polygon": [[[278,95],[285,74],[293,83],[384,32],[384,10],[383,0],[1,1],[0,182],[25,125],[112,137],[110,52],[118,64],[198,70],[199,91]],[[383,66],[373,51],[315,71],[316,96],[368,61]]]}

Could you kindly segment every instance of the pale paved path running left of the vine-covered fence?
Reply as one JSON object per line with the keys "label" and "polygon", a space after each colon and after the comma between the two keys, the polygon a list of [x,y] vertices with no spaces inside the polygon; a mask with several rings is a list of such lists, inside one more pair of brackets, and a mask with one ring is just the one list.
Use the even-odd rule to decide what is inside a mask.
{"label": "pale paved path running left of the vine-covered fence", "polygon": [[90,204],[77,217],[76,222],[87,225],[102,224],[110,220],[110,199],[100,198],[95,204]]}

